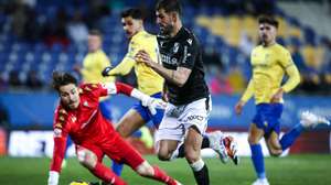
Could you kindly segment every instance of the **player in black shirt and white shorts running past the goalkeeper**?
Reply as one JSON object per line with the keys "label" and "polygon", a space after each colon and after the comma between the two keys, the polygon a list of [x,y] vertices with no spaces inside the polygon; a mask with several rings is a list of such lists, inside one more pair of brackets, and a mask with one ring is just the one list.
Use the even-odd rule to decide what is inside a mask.
{"label": "player in black shirt and white shorts running past the goalkeeper", "polygon": [[185,156],[196,183],[207,185],[209,171],[201,149],[212,148],[222,161],[231,157],[237,164],[237,146],[232,137],[221,131],[205,133],[212,101],[204,80],[202,51],[195,35],[182,25],[179,1],[158,1],[156,13],[161,62],[153,62],[145,51],[137,53],[136,61],[166,79],[169,104],[156,134],[158,156],[162,161]]}

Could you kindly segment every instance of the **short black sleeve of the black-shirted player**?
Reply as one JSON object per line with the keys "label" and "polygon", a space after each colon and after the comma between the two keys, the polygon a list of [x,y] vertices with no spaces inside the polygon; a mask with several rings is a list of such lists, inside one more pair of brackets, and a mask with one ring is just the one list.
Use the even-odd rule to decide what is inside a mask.
{"label": "short black sleeve of the black-shirted player", "polygon": [[[174,45],[174,50],[175,47],[177,46]],[[183,43],[182,47],[182,58],[179,63],[179,66],[192,69],[199,52],[199,44],[195,40],[189,37]]]}

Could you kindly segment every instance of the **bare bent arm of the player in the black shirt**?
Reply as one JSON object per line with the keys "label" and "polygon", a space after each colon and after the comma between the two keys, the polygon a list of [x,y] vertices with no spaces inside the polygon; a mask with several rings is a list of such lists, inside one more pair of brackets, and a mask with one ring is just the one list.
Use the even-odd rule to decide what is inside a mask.
{"label": "bare bent arm of the player in the black shirt", "polygon": [[149,54],[143,50],[139,51],[135,57],[137,62],[145,63],[146,65],[150,66],[168,81],[171,81],[179,87],[182,87],[186,83],[192,72],[185,67],[178,67],[177,70],[164,68],[159,63],[153,62]]}

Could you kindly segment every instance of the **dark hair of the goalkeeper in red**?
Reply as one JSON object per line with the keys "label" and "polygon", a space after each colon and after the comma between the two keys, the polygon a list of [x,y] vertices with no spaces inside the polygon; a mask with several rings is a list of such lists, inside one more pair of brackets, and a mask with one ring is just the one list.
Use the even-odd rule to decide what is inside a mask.
{"label": "dark hair of the goalkeeper in red", "polygon": [[52,74],[52,78],[53,78],[52,86],[56,91],[60,91],[61,86],[65,86],[68,84],[77,85],[77,79],[70,73],[55,70]]}

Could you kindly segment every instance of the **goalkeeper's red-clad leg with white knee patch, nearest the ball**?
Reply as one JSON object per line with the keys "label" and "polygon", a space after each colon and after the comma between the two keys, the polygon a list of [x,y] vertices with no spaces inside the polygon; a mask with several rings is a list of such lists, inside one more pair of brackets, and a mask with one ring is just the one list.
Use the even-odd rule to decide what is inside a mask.
{"label": "goalkeeper's red-clad leg with white knee patch, nearest the ball", "polygon": [[106,184],[126,184],[125,181],[118,177],[114,172],[111,172],[111,170],[102,163],[103,152],[99,148],[95,145],[78,145],[76,154],[78,162]]}

